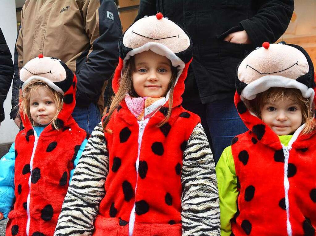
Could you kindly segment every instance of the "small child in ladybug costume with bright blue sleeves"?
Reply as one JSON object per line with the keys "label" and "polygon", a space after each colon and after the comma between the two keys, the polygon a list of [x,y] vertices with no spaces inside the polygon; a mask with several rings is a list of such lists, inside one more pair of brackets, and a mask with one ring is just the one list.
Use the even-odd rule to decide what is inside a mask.
{"label": "small child in ladybug costume with bright blue sleeves", "polygon": [[6,235],[49,236],[87,133],[71,116],[77,80],[66,64],[39,55],[20,78],[23,129],[0,160],[1,218],[9,216]]}

